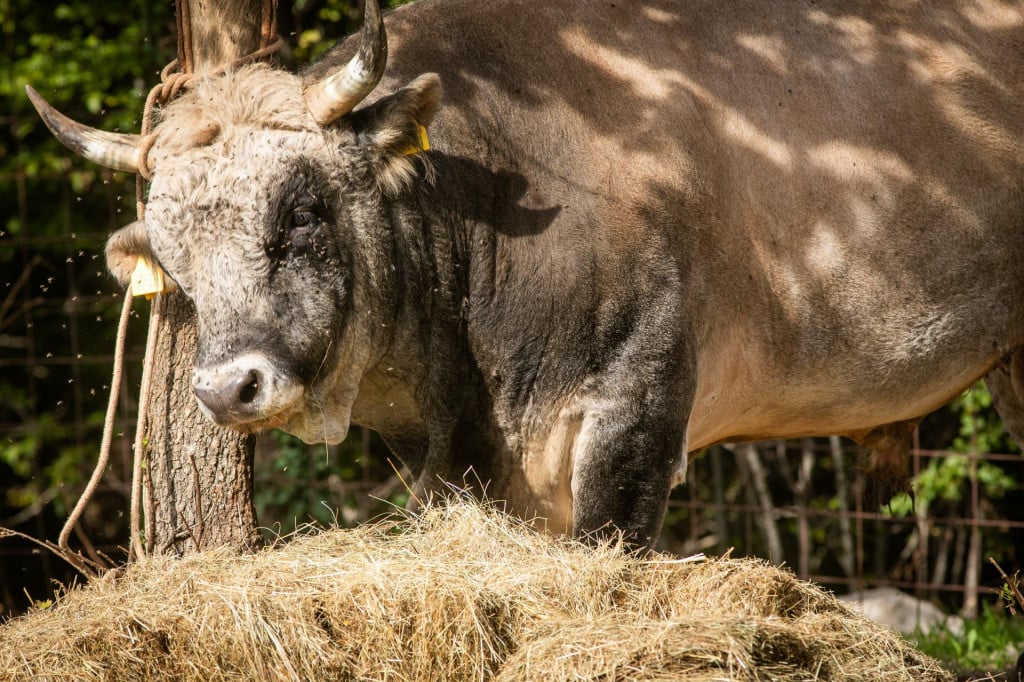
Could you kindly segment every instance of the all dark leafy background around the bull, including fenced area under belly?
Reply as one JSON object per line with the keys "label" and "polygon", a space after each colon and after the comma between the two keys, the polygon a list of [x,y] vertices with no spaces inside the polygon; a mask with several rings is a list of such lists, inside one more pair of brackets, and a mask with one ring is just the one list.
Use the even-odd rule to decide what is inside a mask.
{"label": "all dark leafy background around the bull, including fenced area under belly", "polygon": [[[357,26],[355,4],[283,0],[279,29],[288,48],[282,60],[301,66],[330,48]],[[66,152],[35,115],[25,85],[76,120],[137,132],[145,93],[174,57],[173,4],[0,0],[0,526],[55,540],[100,440],[121,306],[102,244],[134,217],[134,176]],[[127,544],[130,436],[146,307],[136,306],[130,332],[113,461],[77,536],[115,559]],[[713,449],[674,496],[664,547],[680,553],[735,548],[734,554],[786,562],[804,577],[835,579],[829,587],[837,591],[877,581],[920,583],[922,569],[936,585],[955,586],[970,580],[972,561],[988,556],[1011,571],[1020,568],[1020,528],[981,527],[975,548],[972,526],[963,520],[1024,520],[1022,462],[963,456],[1017,452],[984,389],[929,417],[920,445],[943,454],[915,461],[916,506],[898,496],[879,518],[870,516],[878,509],[863,508],[865,481],[849,442]],[[338,446],[264,435],[257,478],[260,520],[272,532],[310,521],[352,524],[403,502],[386,449],[362,429]],[[764,513],[766,505],[776,511]],[[941,525],[924,516],[959,520]],[[987,562],[979,570],[982,602],[994,605],[985,588],[1000,581]],[[0,617],[50,597],[54,581],[71,579],[67,566],[31,544],[0,540]],[[957,590],[925,596],[950,609],[963,604]]]}

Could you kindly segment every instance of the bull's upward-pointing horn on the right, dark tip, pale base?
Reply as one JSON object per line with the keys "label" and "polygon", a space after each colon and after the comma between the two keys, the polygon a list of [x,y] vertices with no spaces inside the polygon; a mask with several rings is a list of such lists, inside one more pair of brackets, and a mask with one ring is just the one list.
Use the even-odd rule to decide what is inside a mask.
{"label": "bull's upward-pointing horn on the right, dark tip, pale base", "polygon": [[366,0],[359,51],[340,69],[306,88],[302,97],[313,119],[326,126],[355,109],[387,66],[387,34],[377,0]]}

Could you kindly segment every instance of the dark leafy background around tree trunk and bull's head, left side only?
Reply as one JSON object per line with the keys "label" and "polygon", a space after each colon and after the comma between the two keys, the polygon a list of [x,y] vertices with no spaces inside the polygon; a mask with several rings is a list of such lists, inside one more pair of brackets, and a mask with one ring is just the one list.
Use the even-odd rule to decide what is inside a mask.
{"label": "dark leafy background around tree trunk and bull's head, left side only", "polygon": [[[358,26],[355,4],[282,2],[279,30],[288,46],[281,60],[298,67],[329,49]],[[25,85],[76,120],[138,132],[145,95],[175,56],[174,5],[0,0],[0,526],[55,540],[98,452],[122,301],[102,247],[108,233],[134,219],[134,176],[68,153],[32,109]],[[138,302],[112,464],[77,536],[114,558],[127,542],[146,313]],[[296,522],[367,518],[384,507],[372,504],[368,491],[394,495],[383,446],[359,429],[337,447],[308,449],[279,433],[258,450],[260,518],[283,532]],[[0,543],[0,617],[72,577],[26,542]]]}

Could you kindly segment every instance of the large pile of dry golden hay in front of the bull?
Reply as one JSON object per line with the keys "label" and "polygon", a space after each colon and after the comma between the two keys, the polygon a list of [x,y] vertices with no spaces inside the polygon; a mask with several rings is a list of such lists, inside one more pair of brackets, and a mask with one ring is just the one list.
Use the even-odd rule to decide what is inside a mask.
{"label": "large pile of dry golden hay in front of the bull", "polygon": [[949,680],[750,560],[641,561],[493,510],[151,559],[0,627],[16,680]]}

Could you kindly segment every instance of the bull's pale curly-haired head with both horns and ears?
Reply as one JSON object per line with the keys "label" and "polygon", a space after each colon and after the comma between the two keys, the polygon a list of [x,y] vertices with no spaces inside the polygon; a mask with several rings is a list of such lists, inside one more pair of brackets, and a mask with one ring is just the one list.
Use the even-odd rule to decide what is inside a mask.
{"label": "bull's pale curly-haired head with both horns and ears", "polygon": [[362,373],[391,334],[389,204],[440,98],[436,75],[353,111],[380,81],[384,25],[366,3],[358,53],[303,84],[264,65],[203,79],[138,136],[77,124],[29,94],[53,133],[119,170],[146,164],[144,223],[116,232],[108,264],[127,284],[154,257],[195,302],[194,387],[203,411],[243,430],[344,437]]}

